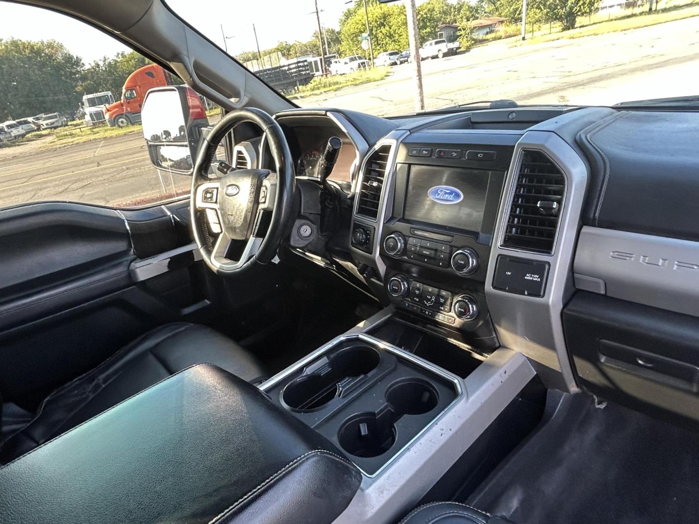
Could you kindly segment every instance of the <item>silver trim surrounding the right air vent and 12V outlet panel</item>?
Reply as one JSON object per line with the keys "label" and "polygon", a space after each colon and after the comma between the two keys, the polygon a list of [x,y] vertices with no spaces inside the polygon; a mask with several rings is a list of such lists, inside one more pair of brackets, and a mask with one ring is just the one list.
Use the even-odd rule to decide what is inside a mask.
{"label": "silver trim surrounding the right air vent and 12V outlet panel", "polygon": [[[559,218],[554,254],[513,252],[494,245],[491,249],[485,294],[500,343],[516,349],[535,363],[545,384],[563,391],[579,391],[565,349],[561,312],[575,290],[572,282],[572,258],[575,250],[580,212],[585,196],[588,171],[577,152],[556,133],[527,131],[514,148],[513,161],[507,172],[506,191],[500,201],[495,238],[502,238],[510,210],[510,198],[517,182],[522,150],[538,150],[552,159],[565,176],[566,189]],[[492,286],[498,255],[516,254],[523,259],[551,264],[545,295],[542,298],[514,295]]]}

